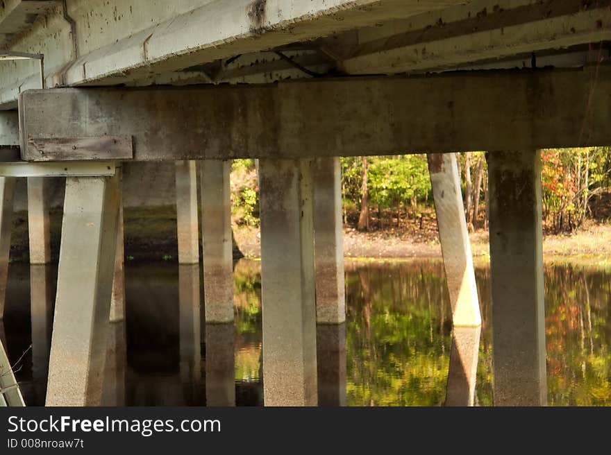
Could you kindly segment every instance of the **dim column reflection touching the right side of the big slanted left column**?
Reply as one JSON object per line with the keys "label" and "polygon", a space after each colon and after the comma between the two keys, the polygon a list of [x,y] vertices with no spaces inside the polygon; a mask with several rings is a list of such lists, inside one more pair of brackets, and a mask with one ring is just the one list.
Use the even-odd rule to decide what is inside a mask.
{"label": "dim column reflection touching the right side of the big slanted left column", "polygon": [[126,354],[125,321],[108,323],[102,406],[125,406]]}

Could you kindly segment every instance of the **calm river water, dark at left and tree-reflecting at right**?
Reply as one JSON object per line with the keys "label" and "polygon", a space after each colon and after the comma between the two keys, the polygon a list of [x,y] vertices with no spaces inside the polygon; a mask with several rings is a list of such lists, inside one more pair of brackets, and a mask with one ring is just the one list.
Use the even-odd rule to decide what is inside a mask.
{"label": "calm river water, dark at left and tree-reflecting at right", "polygon": [[[194,323],[201,317],[193,291],[199,268],[127,264],[126,320],[111,325],[104,403],[261,405],[259,272],[255,261],[235,266],[234,328]],[[54,295],[56,270],[32,273],[33,302]],[[603,266],[546,266],[551,405],[611,405],[610,275]],[[477,268],[476,277],[483,327],[475,404],[486,406],[492,404],[489,270]],[[16,375],[26,403],[40,405],[49,318],[37,303],[42,309],[31,319],[29,288],[29,266],[13,264],[4,336],[12,362],[27,351]],[[348,263],[346,303],[346,325],[317,332],[321,404],[444,404],[451,312],[442,263]]]}

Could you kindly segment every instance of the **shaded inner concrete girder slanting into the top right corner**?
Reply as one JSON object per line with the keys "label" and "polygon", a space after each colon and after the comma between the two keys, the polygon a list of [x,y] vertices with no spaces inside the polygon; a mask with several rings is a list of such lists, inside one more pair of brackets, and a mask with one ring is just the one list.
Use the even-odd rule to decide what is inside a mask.
{"label": "shaded inner concrete girder slanting into the top right corner", "polygon": [[578,44],[598,49],[598,43],[611,39],[609,6],[608,0],[592,6],[581,0],[503,0],[494,6],[476,0],[358,31],[358,45],[339,67],[349,74],[397,74]]}

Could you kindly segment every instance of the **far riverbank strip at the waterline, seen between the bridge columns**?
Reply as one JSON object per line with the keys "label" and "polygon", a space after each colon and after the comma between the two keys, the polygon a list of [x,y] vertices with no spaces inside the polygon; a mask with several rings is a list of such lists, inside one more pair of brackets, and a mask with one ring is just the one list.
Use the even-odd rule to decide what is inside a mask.
{"label": "far riverbank strip at the waterline, seen between the bridge columns", "polygon": [[[51,212],[51,250],[59,254],[61,210]],[[128,261],[176,261],[176,209],[173,206],[126,209],[125,255]],[[235,256],[260,257],[260,230],[234,226]],[[469,235],[476,260],[489,256],[488,232],[479,229]],[[587,222],[571,234],[544,233],[543,250],[549,257],[611,257],[611,223]],[[27,212],[13,218],[11,261],[28,261]],[[401,228],[387,226],[372,232],[344,229],[344,256],[347,258],[408,259],[441,257],[435,219],[413,221]],[[571,259],[572,260],[572,259]]]}

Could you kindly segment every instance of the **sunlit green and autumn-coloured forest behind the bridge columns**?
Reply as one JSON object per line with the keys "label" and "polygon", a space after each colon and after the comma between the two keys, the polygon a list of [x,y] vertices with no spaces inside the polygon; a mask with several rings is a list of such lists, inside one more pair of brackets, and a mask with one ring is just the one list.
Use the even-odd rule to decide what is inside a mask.
{"label": "sunlit green and autumn-coloured forest behind the bridge columns", "polygon": [[[542,215],[546,232],[572,232],[587,219],[611,218],[611,147],[544,149]],[[469,230],[487,228],[485,153],[457,153]],[[423,228],[435,218],[426,155],[342,157],[343,218],[360,231]],[[235,160],[233,221],[258,226],[254,160]]]}

